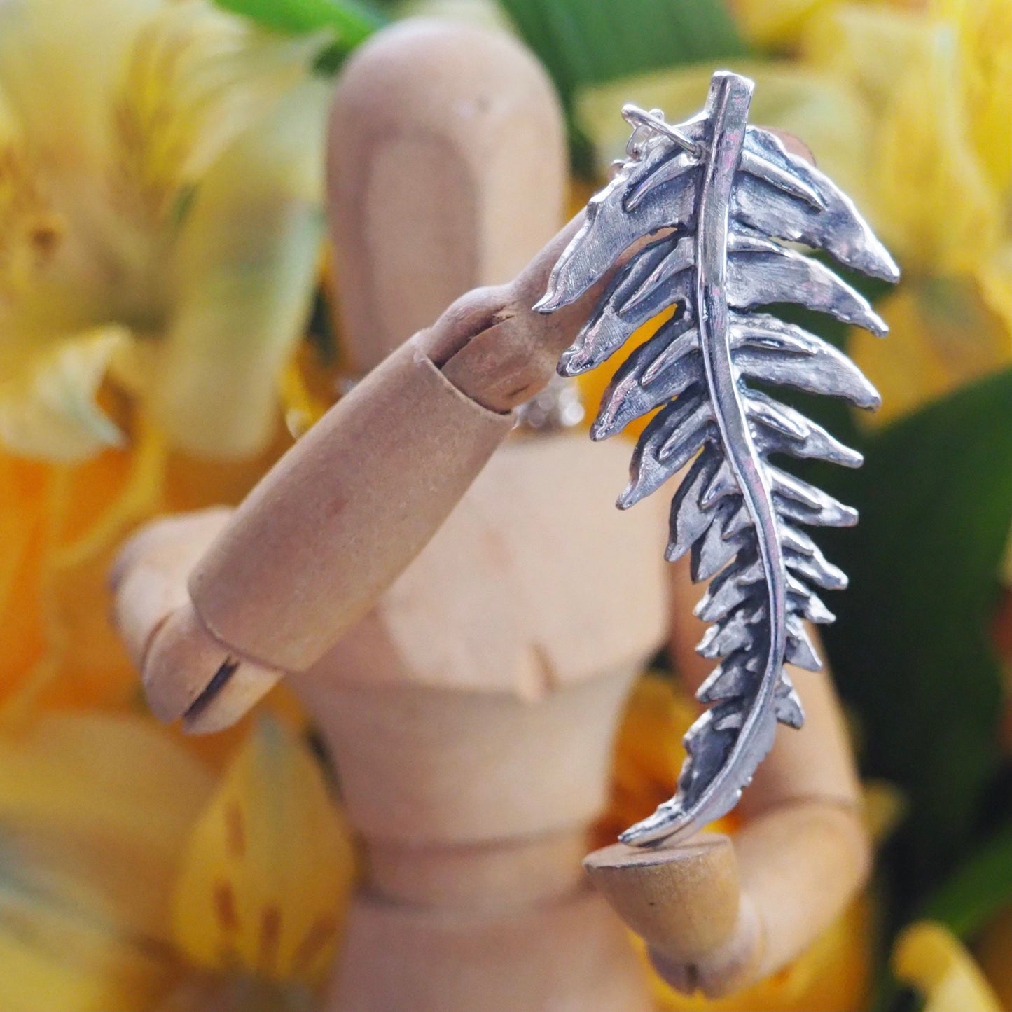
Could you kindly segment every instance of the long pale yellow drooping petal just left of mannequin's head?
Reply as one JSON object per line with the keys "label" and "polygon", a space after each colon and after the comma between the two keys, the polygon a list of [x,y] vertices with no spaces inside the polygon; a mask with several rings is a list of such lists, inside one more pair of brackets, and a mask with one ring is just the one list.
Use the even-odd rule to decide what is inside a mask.
{"label": "long pale yellow drooping petal just left of mannequin's head", "polygon": [[250,455],[276,425],[316,279],[328,98],[324,82],[292,91],[214,165],[183,224],[151,397],[173,442],[196,455]]}

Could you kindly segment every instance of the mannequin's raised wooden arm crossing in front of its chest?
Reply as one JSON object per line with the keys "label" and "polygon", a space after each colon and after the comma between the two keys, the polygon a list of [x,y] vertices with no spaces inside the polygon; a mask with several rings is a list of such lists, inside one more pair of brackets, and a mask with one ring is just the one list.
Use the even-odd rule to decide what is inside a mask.
{"label": "mannequin's raised wooden arm crossing in front of its chest", "polygon": [[389,355],[234,514],[164,521],[128,544],[116,619],[158,716],[193,731],[233,723],[318,660],[421,551],[593,305],[591,291],[565,314],[530,309],[577,227]]}

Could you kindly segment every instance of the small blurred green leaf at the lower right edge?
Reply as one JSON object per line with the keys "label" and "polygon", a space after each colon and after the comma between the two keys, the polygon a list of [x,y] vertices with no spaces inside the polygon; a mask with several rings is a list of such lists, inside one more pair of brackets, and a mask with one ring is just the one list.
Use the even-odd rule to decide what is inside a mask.
{"label": "small blurred green leaf at the lower right edge", "polygon": [[1012,903],[1012,822],[965,858],[921,909],[962,938],[972,938]]}

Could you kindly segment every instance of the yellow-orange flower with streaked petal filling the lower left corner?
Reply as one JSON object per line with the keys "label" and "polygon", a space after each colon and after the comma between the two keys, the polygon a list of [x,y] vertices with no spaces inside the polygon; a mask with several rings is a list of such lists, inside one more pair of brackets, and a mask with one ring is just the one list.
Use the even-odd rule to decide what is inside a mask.
{"label": "yellow-orange flower with streaked petal filling the lower left corner", "polygon": [[0,737],[0,1008],[306,1007],[353,873],[319,763],[275,721],[217,786],[151,718]]}

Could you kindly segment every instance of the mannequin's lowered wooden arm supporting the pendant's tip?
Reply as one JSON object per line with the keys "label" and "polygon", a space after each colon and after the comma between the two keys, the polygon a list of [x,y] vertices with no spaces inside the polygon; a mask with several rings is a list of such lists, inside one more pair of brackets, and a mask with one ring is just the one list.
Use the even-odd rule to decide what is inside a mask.
{"label": "mannequin's lowered wooden arm supporting the pendant's tip", "polygon": [[[671,650],[695,691],[710,663],[693,650],[705,624],[692,615],[700,588],[686,563],[672,567]],[[591,877],[647,938],[659,973],[684,992],[716,997],[775,973],[815,941],[868,873],[859,784],[832,680],[825,671],[788,670],[805,727],[778,729],[742,795],[744,825],[732,840],[706,835],[654,850],[616,844],[587,859]]]}

